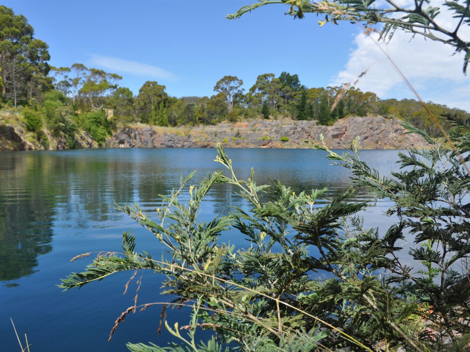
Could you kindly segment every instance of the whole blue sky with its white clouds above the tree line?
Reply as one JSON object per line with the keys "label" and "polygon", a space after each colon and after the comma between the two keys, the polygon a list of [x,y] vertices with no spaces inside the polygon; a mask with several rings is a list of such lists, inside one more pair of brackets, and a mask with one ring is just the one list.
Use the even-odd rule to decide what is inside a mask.
{"label": "whole blue sky with its white clouds above the tree line", "polygon": [[[402,4],[409,0],[398,0]],[[79,62],[123,76],[134,94],[147,80],[166,86],[171,96],[211,96],[216,82],[237,76],[248,90],[258,75],[298,74],[307,87],[355,81],[382,99],[415,96],[376,45],[348,22],[319,26],[317,17],[284,15],[288,5],[270,5],[227,20],[255,0],[25,1],[2,4],[24,15],[35,38],[49,45],[50,64]],[[433,5],[439,5],[435,0]],[[449,12],[438,16],[451,27]],[[439,22],[438,21],[438,22]],[[377,27],[380,30],[380,27]],[[470,40],[470,26],[462,26]],[[460,32],[459,32],[460,33]],[[424,101],[470,111],[470,74],[463,54],[442,43],[397,31],[381,44]],[[470,71],[470,69],[469,69]]]}

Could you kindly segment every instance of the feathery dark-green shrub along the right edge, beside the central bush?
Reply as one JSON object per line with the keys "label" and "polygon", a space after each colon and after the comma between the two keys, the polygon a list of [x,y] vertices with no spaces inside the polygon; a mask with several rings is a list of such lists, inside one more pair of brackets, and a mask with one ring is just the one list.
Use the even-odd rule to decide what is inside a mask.
{"label": "feathery dark-green shrub along the right edge, beside the central bush", "polygon": [[[456,120],[451,123],[455,128],[450,136],[468,161],[469,123]],[[384,265],[391,272],[387,280],[398,285],[407,299],[433,307],[424,315],[433,322],[433,331],[441,334],[434,341],[435,348],[444,350],[450,344],[446,338],[453,338],[449,336],[454,334],[449,333],[450,330],[464,334],[464,339],[468,339],[466,334],[469,333],[464,321],[469,317],[467,302],[470,298],[467,277],[470,222],[466,200],[470,177],[456,153],[442,140],[431,138],[409,124],[403,126],[409,133],[423,136],[431,149],[399,153],[399,163],[404,170],[393,172],[394,178],[380,176],[361,161],[357,141],[350,146],[352,155],[339,155],[325,145],[313,143],[312,146],[329,152],[335,164],[350,168],[356,186],[367,187],[379,199],[392,199],[394,205],[386,214],[397,216],[398,223],[382,240],[392,259]],[[409,254],[415,260],[415,267],[405,265],[397,254],[405,231],[414,236],[416,245]]]}

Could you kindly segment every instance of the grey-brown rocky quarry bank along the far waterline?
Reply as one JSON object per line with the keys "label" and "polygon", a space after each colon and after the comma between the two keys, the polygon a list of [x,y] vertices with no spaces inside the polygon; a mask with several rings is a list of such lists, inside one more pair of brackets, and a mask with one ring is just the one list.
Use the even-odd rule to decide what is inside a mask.
{"label": "grey-brown rocky quarry bank along the far waterline", "polygon": [[[319,140],[323,134],[330,148],[360,137],[365,149],[425,148],[428,144],[418,135],[403,134],[400,120],[382,116],[346,117],[332,126],[319,126],[316,121],[249,120],[222,122],[216,126],[158,127],[133,124],[119,128],[101,147],[111,148],[201,148],[221,142],[225,147],[306,148],[305,140]],[[47,136],[49,150],[67,149],[65,138]],[[76,133],[75,148],[100,147],[85,131]],[[1,150],[44,150],[19,126],[0,125]]]}

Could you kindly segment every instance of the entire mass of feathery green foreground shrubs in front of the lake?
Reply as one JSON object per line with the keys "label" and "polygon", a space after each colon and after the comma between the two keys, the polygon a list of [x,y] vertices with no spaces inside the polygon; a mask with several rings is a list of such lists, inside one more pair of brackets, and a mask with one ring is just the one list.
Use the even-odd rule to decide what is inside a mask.
{"label": "entire mass of feathery green foreground shrubs in front of the lake", "polygon": [[[468,161],[470,123],[452,123],[451,138]],[[311,143],[349,168],[355,187],[392,200],[386,214],[397,222],[388,229],[364,226],[357,213],[366,202],[352,201],[353,189],[319,202],[326,188],[296,193],[277,181],[258,185],[254,170],[240,180],[218,144],[216,161],[227,175],[209,174],[199,186],[188,186],[194,173],[181,179],[178,190],[161,195],[165,206],[157,209],[157,220],[137,205],[116,205],[151,231],[167,256],[154,260],[136,253],[135,237],[124,233],[121,254],[101,253],[86,272],[70,275],[61,287],[80,287],[123,270],[165,273],[162,293],[172,297],[172,305],[192,306],[183,328],[188,337],[165,322],[180,344],[166,350],[128,344],[131,351],[220,351],[229,344],[241,351],[375,351],[383,341],[390,350],[461,351],[470,341],[470,177],[442,141],[404,126],[432,148],[399,153],[402,171],[393,172],[393,178],[360,160],[357,140],[350,145],[352,153],[342,155]],[[234,208],[210,222],[198,221],[204,196],[216,184],[235,187],[249,211]],[[181,203],[180,197],[189,200]],[[221,231],[230,228],[250,245],[221,242]],[[406,233],[415,242],[412,265],[399,255]],[[207,344],[196,344],[196,326],[217,334]]]}

